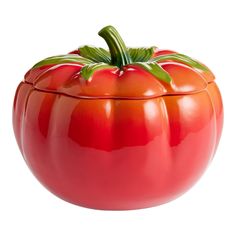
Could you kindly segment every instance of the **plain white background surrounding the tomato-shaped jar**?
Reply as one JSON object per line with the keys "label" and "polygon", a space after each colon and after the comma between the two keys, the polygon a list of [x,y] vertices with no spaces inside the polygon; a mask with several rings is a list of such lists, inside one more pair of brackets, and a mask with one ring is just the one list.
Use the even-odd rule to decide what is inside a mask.
{"label": "plain white background surrounding the tomato-shaped jar", "polygon": [[[0,235],[236,235],[235,1],[98,0],[0,2]],[[15,89],[48,56],[104,46],[112,24],[128,46],[169,48],[208,65],[225,122],[215,159],[184,196],[136,211],[98,211],[53,196],[28,170],[12,131]]]}

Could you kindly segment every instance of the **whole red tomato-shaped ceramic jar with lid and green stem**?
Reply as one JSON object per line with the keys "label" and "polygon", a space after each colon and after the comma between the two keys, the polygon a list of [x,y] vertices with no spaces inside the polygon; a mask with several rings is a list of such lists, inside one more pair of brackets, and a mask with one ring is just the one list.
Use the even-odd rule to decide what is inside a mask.
{"label": "whole red tomato-shaped ceramic jar with lid and green stem", "polygon": [[157,47],[83,46],[46,58],[18,86],[15,136],[57,196],[96,209],[159,205],[188,190],[217,148],[223,106],[202,63]]}

